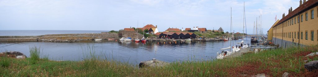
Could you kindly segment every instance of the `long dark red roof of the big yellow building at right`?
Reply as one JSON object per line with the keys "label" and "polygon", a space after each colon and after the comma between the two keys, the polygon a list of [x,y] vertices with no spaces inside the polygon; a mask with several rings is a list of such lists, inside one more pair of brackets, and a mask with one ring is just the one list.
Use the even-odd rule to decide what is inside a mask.
{"label": "long dark red roof of the big yellow building at right", "polygon": [[[290,12],[287,16],[281,18],[280,21],[278,22],[278,24],[276,24],[275,26],[285,22],[286,20],[290,19],[291,17],[294,17],[295,15],[298,15],[299,13],[301,13],[302,11],[306,10],[307,8],[315,5],[316,3],[318,3],[318,0],[308,0],[307,2],[305,2],[304,4],[300,5],[298,8],[296,8],[295,10]],[[275,27],[275,26],[273,26],[273,27]]]}

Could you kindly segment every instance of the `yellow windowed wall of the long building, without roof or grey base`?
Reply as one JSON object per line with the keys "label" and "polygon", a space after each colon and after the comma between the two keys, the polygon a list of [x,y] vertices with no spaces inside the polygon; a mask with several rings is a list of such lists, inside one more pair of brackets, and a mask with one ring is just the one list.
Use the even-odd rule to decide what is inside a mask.
{"label": "yellow windowed wall of the long building, without roof or grey base", "polygon": [[[314,10],[314,19],[311,19],[311,10]],[[279,25],[273,27],[273,37],[278,39],[283,39],[286,41],[292,42],[294,39],[294,43],[299,43],[302,45],[318,45],[318,6],[311,8],[301,14],[289,18],[284,23],[280,23]],[[308,13],[308,20],[306,21],[306,13]],[[303,15],[303,22],[301,22],[301,15]],[[299,23],[297,18],[299,16]],[[296,18],[296,24],[295,19]],[[293,19],[293,24],[290,24]],[[314,40],[311,40],[311,31],[314,32]],[[296,32],[296,37],[295,33]],[[298,32],[300,32],[300,37],[298,39]],[[303,39],[301,39],[301,32],[303,32]],[[306,40],[306,32],[308,32],[308,40]],[[286,33],[286,35],[284,35]],[[289,38],[289,33],[293,34]],[[292,38],[293,37],[293,38]]]}

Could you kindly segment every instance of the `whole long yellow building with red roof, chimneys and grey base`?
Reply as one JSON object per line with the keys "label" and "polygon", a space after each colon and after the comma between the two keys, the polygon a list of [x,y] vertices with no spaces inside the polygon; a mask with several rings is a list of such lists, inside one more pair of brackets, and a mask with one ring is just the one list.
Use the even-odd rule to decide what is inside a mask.
{"label": "whole long yellow building with red roof, chimneys and grey base", "polygon": [[300,1],[274,25],[273,43],[280,47],[318,45],[318,0]]}

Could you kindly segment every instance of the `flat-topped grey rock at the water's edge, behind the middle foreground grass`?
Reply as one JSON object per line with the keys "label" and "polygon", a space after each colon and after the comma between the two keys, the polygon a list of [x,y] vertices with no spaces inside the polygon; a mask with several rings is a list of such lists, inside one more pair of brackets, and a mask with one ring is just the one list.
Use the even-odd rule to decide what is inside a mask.
{"label": "flat-topped grey rock at the water's edge, behind the middle foreground grass", "polygon": [[164,61],[160,61],[160,60],[147,60],[147,61],[141,61],[139,63],[139,67],[162,67],[165,65],[168,65],[169,63],[164,62]]}

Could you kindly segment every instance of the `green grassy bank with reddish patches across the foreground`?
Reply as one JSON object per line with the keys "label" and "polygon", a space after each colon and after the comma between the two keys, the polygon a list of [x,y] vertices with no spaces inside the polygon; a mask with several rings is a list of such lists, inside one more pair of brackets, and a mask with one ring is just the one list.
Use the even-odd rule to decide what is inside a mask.
{"label": "green grassy bank with reddish patches across the foreground", "polygon": [[[153,76],[191,76],[191,77],[235,77],[246,74],[266,74],[281,76],[288,72],[293,76],[317,76],[317,71],[308,72],[303,60],[317,60],[318,56],[305,57],[317,52],[318,46],[292,47],[287,49],[265,50],[249,53],[236,58],[206,61],[175,61],[164,67],[138,68],[127,62],[101,59],[95,55],[93,45],[83,46],[86,52],[82,61],[51,61],[39,59],[33,64],[27,59],[13,59],[11,65],[0,68],[3,76],[112,76],[112,77],[153,77]],[[106,56],[104,56],[106,57]],[[1,61],[5,59],[0,58]]]}

